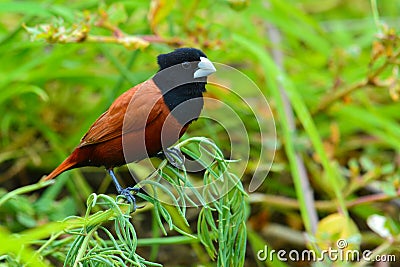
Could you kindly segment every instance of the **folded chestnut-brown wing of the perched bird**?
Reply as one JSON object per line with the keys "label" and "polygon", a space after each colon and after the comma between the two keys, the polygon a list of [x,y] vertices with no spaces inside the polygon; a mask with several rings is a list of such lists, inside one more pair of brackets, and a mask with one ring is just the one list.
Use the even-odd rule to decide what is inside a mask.
{"label": "folded chestnut-brown wing of the perched bird", "polygon": [[79,147],[143,130],[162,112],[162,94],[152,80],[138,84],[119,96],[83,136]]}

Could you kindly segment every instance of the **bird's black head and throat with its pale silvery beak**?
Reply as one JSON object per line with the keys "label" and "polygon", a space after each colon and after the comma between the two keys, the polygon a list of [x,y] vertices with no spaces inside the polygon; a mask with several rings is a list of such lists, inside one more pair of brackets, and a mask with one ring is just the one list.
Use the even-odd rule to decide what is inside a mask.
{"label": "bird's black head and throat with its pale silvery beak", "polygon": [[195,48],[178,48],[161,54],[157,62],[160,70],[153,81],[171,113],[182,125],[197,119],[203,108],[207,77],[216,71],[212,62]]}

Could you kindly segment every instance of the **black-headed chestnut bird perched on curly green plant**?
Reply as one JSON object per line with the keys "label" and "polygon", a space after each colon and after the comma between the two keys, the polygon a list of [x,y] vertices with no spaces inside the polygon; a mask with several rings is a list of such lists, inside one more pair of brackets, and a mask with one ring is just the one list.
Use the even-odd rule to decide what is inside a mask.
{"label": "black-headed chestnut bird perched on curly green plant", "polygon": [[118,194],[135,203],[131,191],[122,188],[113,168],[168,149],[198,118],[203,108],[207,76],[216,71],[207,56],[195,48],[179,48],[157,58],[159,71],[149,80],[119,96],[83,136],[80,144],[44,180],[84,166],[104,166]]}

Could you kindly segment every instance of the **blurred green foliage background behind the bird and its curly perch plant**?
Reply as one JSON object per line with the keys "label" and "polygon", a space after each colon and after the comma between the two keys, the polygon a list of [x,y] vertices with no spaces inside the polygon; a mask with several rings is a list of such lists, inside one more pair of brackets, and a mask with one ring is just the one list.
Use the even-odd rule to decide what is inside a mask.
{"label": "blurred green foliage background behind the bird and its curly perch plant", "polygon": [[[191,46],[250,77],[275,120],[274,162],[248,198],[246,266],[309,266],[261,261],[257,251],[267,244],[324,249],[339,238],[400,260],[399,14],[400,1],[378,0],[3,0],[0,197],[50,173],[117,96],[154,75],[157,55]],[[254,110],[263,108],[259,95],[239,91]],[[261,145],[274,140],[260,138],[237,98],[213,86],[208,95],[235,107],[246,125],[248,188]],[[209,137],[224,151],[231,146],[207,120],[194,123],[190,136]],[[270,167],[264,164],[258,167]],[[136,171],[144,173],[140,165]],[[126,167],[118,175],[132,183]],[[20,232],[82,215],[90,193],[115,193],[110,183],[101,168],[67,172],[1,205],[1,227]],[[135,216],[143,236],[150,216]],[[139,250],[146,258],[147,249]],[[160,251],[155,258],[165,266],[201,258],[183,245]]]}

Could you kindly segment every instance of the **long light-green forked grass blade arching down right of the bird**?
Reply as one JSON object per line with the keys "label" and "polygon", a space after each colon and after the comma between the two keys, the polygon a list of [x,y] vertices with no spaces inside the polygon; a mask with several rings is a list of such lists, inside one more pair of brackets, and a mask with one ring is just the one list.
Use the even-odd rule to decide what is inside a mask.
{"label": "long light-green forked grass blade arching down right of the bird", "polygon": [[[297,118],[303,125],[316,153],[321,159],[321,164],[324,168],[324,171],[326,173],[326,182],[331,185],[331,190],[336,197],[336,200],[338,202],[338,205],[340,207],[340,212],[343,213],[346,217],[348,217],[348,211],[345,205],[345,200],[343,197],[343,193],[341,191],[340,187],[340,182],[343,179],[343,177],[340,175],[338,170],[334,167],[334,165],[331,163],[329,160],[329,157],[325,151],[325,148],[323,146],[320,134],[318,132],[318,129],[316,125],[314,124],[314,121],[311,117],[311,114],[309,113],[307,107],[305,106],[305,103],[301,96],[298,94],[297,89],[295,86],[292,84],[292,82],[289,80],[289,78],[286,77],[285,73],[281,71],[271,57],[269,56],[268,53],[265,52],[264,47],[253,43],[249,40],[247,40],[245,37],[235,34],[233,39],[241,46],[246,47],[251,53],[255,54],[258,57],[259,62],[262,64],[263,69],[264,69],[264,75],[265,77],[276,77],[276,79],[265,79],[266,80],[266,86],[270,88],[273,97],[276,101],[277,109],[279,114],[284,114],[284,108],[283,108],[283,103],[282,103],[282,98],[281,95],[278,91],[277,87],[277,82],[279,79],[279,82],[282,83],[282,85],[285,87],[287,90],[288,97],[290,99],[290,102],[292,104],[292,107],[294,111],[296,112]],[[306,206],[306,201],[304,199],[303,192],[300,192],[301,186],[300,186],[300,181],[301,177],[299,174],[299,170],[296,169],[296,162],[295,162],[295,142],[293,140],[292,132],[290,131],[290,128],[285,122],[284,119],[281,119],[282,123],[282,128],[283,128],[283,138],[285,142],[285,150],[286,154],[289,158],[289,163],[290,163],[290,169],[293,175],[293,181],[297,184],[296,186],[296,193],[297,196],[299,197],[299,201],[301,204],[301,214],[303,216],[305,228],[309,233],[312,233],[312,228],[311,228],[311,221],[309,218],[309,215],[307,213],[307,206]],[[330,192],[329,192],[330,193]]]}

